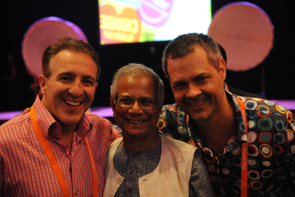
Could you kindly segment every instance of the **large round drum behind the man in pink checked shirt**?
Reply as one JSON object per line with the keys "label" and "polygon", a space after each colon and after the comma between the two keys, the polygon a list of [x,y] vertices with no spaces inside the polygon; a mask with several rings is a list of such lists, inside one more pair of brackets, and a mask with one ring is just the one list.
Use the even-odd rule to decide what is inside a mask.
{"label": "large round drum behind the man in pink checked shirt", "polygon": [[22,43],[22,53],[32,76],[42,74],[43,52],[61,37],[76,38],[88,43],[86,35],[77,25],[58,17],[42,18],[29,27]]}

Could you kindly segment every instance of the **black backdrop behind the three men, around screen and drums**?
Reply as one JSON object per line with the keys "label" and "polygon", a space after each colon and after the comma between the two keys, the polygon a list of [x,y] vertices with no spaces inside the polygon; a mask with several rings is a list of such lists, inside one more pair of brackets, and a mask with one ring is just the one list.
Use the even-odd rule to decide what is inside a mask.
{"label": "black backdrop behind the three men, around screen and drums", "polygon": [[[212,0],[212,14],[231,2],[234,1]],[[292,1],[249,2],[264,9],[274,25],[274,46],[262,63],[265,68],[265,95],[267,99],[295,99],[295,14],[294,6],[290,4]],[[1,7],[0,111],[23,110],[33,103],[34,93],[29,87],[33,78],[26,71],[21,42],[31,24],[48,16],[60,17],[79,26],[99,54],[102,74],[92,106],[109,106],[112,76],[118,68],[128,63],[141,63],[153,68],[165,83],[164,104],[174,102],[169,82],[161,68],[162,52],[168,42],[100,46],[97,0],[15,0],[6,1],[5,4],[1,2]],[[16,77],[10,80],[7,79],[12,74],[12,64],[8,63],[9,54],[13,55],[13,65],[16,68]],[[261,94],[262,65],[244,72],[228,71],[226,82],[238,89]]]}

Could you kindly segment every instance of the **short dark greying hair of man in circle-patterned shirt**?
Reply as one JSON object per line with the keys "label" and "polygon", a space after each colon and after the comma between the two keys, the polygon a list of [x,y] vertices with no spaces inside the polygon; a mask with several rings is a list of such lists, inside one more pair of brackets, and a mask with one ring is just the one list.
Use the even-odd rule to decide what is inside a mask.
{"label": "short dark greying hair of man in circle-patterned shirt", "polygon": [[207,58],[210,64],[219,71],[219,61],[222,56],[214,39],[203,33],[187,33],[178,35],[177,38],[166,46],[163,52],[163,70],[168,79],[170,79],[167,69],[168,59],[181,58],[200,46],[204,47],[207,52]]}

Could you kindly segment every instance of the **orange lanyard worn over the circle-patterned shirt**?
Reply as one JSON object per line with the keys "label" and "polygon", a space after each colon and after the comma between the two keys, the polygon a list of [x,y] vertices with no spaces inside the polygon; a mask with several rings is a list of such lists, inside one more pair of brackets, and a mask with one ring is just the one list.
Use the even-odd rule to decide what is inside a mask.
{"label": "orange lanyard worn over the circle-patterned shirt", "polygon": [[[243,121],[245,124],[246,136],[248,136],[245,104],[240,99],[237,99],[237,100],[238,100],[238,104],[241,109],[242,118],[243,118]],[[188,133],[190,135],[190,140],[191,140],[192,144],[194,146],[196,146],[196,144],[193,141],[191,134],[190,134],[190,130],[188,127],[188,119],[189,119],[189,116],[186,115],[186,126],[187,126]],[[242,143],[241,155],[242,155],[242,158],[241,158],[241,197],[247,197],[248,141],[246,141],[245,143]],[[212,187],[212,185],[211,185],[211,187]]]}

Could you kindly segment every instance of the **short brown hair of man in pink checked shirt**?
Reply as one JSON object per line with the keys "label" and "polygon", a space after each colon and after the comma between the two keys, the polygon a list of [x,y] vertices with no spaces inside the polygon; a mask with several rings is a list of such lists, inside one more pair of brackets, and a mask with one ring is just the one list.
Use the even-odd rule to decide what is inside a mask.
{"label": "short brown hair of man in pink checked shirt", "polygon": [[97,76],[96,76],[96,83],[99,78],[100,74],[100,66],[97,53],[93,50],[92,46],[85,43],[82,40],[77,40],[75,38],[70,37],[62,37],[58,39],[58,42],[55,44],[49,45],[43,53],[42,56],[42,71],[43,75],[48,79],[51,75],[51,63],[53,58],[63,50],[68,50],[74,53],[84,53],[88,54],[94,64],[97,67]]}

